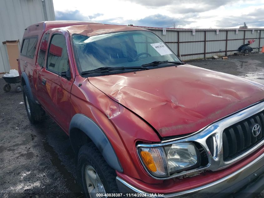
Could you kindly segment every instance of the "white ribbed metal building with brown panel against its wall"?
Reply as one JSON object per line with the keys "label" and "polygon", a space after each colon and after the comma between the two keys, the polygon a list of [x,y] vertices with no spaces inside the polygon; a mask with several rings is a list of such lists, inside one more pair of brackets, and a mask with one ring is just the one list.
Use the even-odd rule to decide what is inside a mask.
{"label": "white ribbed metal building with brown panel against its wall", "polygon": [[24,29],[54,20],[52,0],[0,0],[0,74],[17,69]]}

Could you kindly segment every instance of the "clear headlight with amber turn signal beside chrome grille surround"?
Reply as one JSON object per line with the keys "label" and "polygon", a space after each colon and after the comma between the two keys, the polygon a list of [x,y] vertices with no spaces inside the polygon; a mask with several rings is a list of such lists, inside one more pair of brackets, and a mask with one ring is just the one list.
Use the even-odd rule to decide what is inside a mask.
{"label": "clear headlight with amber turn signal beside chrome grille surround", "polygon": [[192,169],[200,165],[201,156],[189,142],[164,147],[138,147],[138,154],[144,167],[155,177],[169,177],[173,173]]}

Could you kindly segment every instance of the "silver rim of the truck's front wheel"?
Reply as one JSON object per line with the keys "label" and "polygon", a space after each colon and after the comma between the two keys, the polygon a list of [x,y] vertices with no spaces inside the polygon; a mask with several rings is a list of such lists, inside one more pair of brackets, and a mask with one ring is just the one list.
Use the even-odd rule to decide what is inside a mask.
{"label": "silver rim of the truck's front wheel", "polygon": [[[87,165],[85,167],[85,180],[86,180],[87,190],[91,198],[98,197],[96,196],[97,193],[105,194],[105,189],[102,184],[102,181],[92,166]],[[106,198],[106,196],[99,196],[99,197]]]}

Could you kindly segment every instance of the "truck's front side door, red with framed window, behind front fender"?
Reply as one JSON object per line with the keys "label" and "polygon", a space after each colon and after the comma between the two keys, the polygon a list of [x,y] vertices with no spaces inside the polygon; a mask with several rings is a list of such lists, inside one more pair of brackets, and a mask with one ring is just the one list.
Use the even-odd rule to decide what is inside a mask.
{"label": "truck's front side door, red with framed window, behind front fender", "polygon": [[[69,45],[67,48],[64,34],[53,33],[48,42],[45,67],[38,71],[40,103],[66,132],[71,120],[70,93],[74,81],[74,67],[68,56]],[[68,75],[62,77],[61,74],[65,73]]]}

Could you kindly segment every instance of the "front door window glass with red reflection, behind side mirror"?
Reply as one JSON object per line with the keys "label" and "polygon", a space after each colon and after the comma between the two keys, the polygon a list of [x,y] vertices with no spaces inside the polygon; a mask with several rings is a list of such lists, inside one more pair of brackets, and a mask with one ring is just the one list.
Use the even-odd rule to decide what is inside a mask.
{"label": "front door window glass with red reflection, behind side mirror", "polygon": [[47,70],[61,74],[68,71],[69,61],[65,37],[62,34],[55,34],[51,38],[47,57]]}

